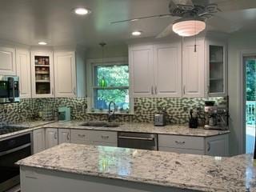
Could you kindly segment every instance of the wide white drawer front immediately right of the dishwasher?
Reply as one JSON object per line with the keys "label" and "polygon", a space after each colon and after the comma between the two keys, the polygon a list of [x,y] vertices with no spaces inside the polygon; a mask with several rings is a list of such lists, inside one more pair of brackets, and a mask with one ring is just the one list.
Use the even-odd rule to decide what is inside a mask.
{"label": "wide white drawer front immediately right of the dishwasher", "polygon": [[159,134],[158,146],[166,146],[180,149],[204,150],[204,138]]}

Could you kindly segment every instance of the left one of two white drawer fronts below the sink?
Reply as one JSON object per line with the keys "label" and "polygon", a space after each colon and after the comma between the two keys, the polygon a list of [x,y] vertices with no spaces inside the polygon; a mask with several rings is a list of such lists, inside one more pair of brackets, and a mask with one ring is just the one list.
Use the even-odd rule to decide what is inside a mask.
{"label": "left one of two white drawer fronts below the sink", "polygon": [[78,144],[90,143],[90,130],[70,130],[71,142]]}

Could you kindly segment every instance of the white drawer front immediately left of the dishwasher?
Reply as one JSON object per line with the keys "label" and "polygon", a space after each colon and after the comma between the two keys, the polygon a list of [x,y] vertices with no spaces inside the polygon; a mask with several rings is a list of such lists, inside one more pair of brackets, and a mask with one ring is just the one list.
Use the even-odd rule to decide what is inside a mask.
{"label": "white drawer front immediately left of the dishwasher", "polygon": [[118,142],[118,134],[113,131],[93,130],[90,132],[90,141],[93,142]]}

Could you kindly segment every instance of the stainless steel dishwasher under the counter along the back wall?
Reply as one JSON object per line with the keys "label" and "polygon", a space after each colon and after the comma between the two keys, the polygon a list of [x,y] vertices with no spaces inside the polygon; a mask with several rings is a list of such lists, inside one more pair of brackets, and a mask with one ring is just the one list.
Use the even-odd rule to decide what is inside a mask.
{"label": "stainless steel dishwasher under the counter along the back wall", "polygon": [[158,135],[118,132],[118,147],[158,150]]}

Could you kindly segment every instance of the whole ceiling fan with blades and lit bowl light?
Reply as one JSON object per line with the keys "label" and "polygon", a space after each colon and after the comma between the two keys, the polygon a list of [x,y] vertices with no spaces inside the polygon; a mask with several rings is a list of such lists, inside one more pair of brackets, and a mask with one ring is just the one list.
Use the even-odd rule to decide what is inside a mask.
{"label": "whole ceiling fan with blades and lit bowl light", "polygon": [[210,3],[206,0],[170,0],[168,14],[150,15],[141,18],[131,18],[120,22],[134,22],[145,18],[163,18],[178,17],[174,22],[170,23],[156,38],[164,38],[174,31],[174,33],[189,37],[199,34],[206,28],[206,20],[212,18],[215,13],[221,11],[217,3]]}

